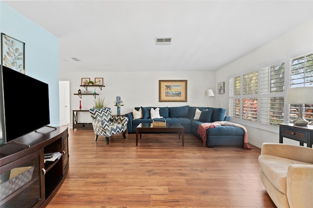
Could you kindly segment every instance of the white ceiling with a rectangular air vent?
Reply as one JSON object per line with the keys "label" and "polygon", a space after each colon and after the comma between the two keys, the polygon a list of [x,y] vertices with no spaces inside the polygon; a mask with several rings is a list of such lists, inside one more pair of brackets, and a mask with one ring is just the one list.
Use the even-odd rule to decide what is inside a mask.
{"label": "white ceiling with a rectangular air vent", "polygon": [[313,0],[4,2],[59,38],[60,71],[73,72],[217,70],[313,20]]}

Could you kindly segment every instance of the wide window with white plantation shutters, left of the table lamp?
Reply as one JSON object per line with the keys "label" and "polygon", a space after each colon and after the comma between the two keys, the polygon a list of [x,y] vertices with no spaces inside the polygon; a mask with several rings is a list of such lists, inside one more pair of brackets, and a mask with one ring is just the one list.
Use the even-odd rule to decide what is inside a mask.
{"label": "wide window with white plantation shutters, left of the table lamp", "polygon": [[[229,79],[229,115],[265,125],[284,122],[285,62]],[[241,92],[242,86],[242,94]]]}

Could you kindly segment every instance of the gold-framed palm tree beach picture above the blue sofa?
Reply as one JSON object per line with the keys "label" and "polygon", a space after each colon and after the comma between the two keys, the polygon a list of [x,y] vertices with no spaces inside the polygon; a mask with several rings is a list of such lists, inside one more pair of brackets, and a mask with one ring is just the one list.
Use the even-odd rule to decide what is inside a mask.
{"label": "gold-framed palm tree beach picture above the blue sofa", "polygon": [[187,80],[159,80],[159,102],[187,102]]}

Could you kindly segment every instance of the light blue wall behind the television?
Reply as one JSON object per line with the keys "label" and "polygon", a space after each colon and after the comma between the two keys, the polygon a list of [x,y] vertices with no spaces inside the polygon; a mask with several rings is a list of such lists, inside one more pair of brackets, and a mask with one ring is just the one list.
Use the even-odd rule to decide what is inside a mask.
{"label": "light blue wall behind the television", "polygon": [[[58,39],[0,1],[0,32],[25,42],[25,74],[49,85],[50,125],[59,126],[59,63]],[[1,61],[0,61],[1,62]],[[19,86],[27,93],[36,93],[27,86]],[[14,93],[12,94],[14,96]],[[38,95],[40,96],[40,95]],[[19,98],[17,98],[19,99]],[[21,106],[23,102],[20,101]],[[36,108],[37,103],[34,103]],[[27,110],[27,109],[24,109]],[[31,119],[38,119],[34,115]]]}

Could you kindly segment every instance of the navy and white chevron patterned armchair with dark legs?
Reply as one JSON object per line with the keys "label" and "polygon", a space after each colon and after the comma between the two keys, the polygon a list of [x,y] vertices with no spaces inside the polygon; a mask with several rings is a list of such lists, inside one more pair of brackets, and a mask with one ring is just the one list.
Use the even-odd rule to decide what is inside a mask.
{"label": "navy and white chevron patterned armchair with dark legs", "polygon": [[98,136],[106,138],[106,144],[109,145],[109,137],[118,133],[123,133],[123,138],[126,139],[125,132],[127,130],[128,117],[111,117],[111,108],[91,108],[89,109],[92,118],[93,132],[95,133],[94,141],[97,141]]}

